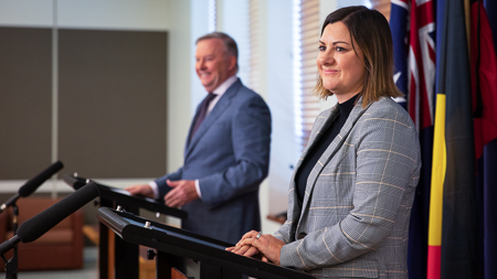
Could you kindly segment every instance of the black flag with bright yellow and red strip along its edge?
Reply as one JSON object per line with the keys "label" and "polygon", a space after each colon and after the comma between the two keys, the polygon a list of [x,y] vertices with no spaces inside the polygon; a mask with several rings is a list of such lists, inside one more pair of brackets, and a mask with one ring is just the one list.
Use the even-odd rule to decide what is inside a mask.
{"label": "black flag with bright yellow and red strip along its edge", "polygon": [[427,278],[478,278],[472,86],[464,0],[444,1],[437,6],[437,14],[441,18],[437,17],[437,104]]}

